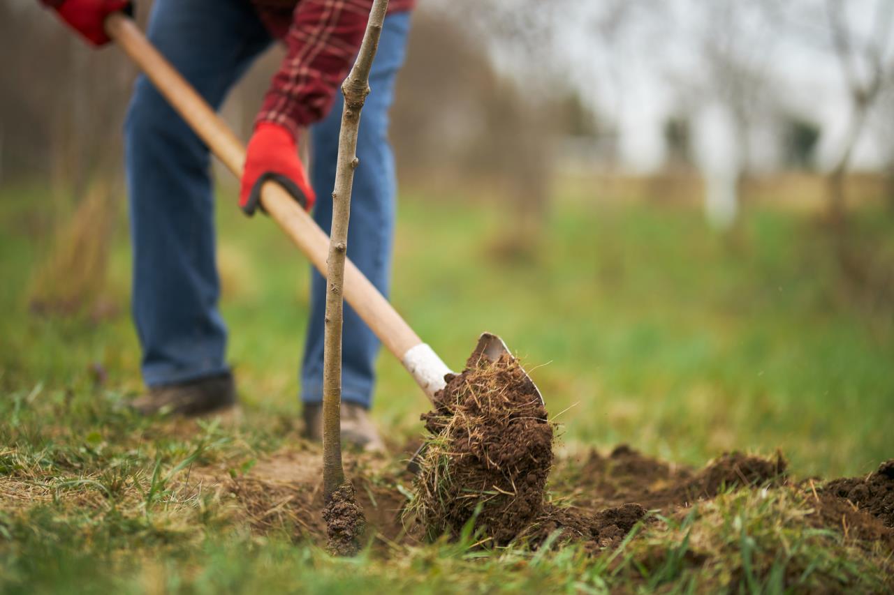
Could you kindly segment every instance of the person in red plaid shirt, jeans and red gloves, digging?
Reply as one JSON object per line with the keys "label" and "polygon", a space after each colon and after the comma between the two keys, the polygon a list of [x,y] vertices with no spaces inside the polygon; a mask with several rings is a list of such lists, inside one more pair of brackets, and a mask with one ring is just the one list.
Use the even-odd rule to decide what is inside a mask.
{"label": "person in red plaid shirt, jeans and red gloves, digging", "polygon": [[[94,46],[110,41],[109,13],[124,0],[41,0]],[[249,140],[240,206],[257,207],[260,185],[283,184],[303,205],[329,197],[341,126],[342,80],[366,29],[372,0],[156,0],[148,38],[215,110],[274,39],[286,46]],[[390,278],[395,173],[388,111],[403,63],[413,0],[391,0],[375,55],[358,136],[349,230],[350,258],[385,295]],[[297,150],[309,127],[310,175]],[[136,82],[124,126],[133,247],[132,314],[148,386],[133,406],[145,414],[204,415],[236,402],[218,310],[213,189],[208,148],[145,76]],[[332,201],[316,201],[328,232]],[[312,273],[308,334],[300,369],[306,430],[322,438],[325,280]],[[379,342],[345,306],[342,440],[381,448],[367,416]]]}

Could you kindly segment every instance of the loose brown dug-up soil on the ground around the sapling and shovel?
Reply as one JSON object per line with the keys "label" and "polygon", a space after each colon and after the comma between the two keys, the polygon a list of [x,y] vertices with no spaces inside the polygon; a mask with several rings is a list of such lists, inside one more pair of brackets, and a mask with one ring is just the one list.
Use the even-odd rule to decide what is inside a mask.
{"label": "loose brown dug-up soil on the ground around the sapling and shovel", "polygon": [[[226,465],[194,469],[190,485],[181,489],[216,491],[219,498],[232,501],[233,518],[244,520],[259,534],[291,532],[295,539],[325,544],[328,536],[320,516],[324,508],[321,453],[316,445],[297,446],[264,457],[245,475],[232,476]],[[345,472],[356,486],[356,498],[367,515],[369,540],[374,547],[381,543],[416,544],[426,538],[425,527],[415,522],[413,515],[405,514],[409,499],[402,487],[414,481],[404,462],[416,446],[401,448],[403,454],[393,458],[363,453],[345,459]],[[877,494],[884,486],[890,487],[891,467],[894,461],[864,478],[791,483],[779,456],[763,459],[733,453],[694,470],[646,457],[622,445],[608,455],[591,451],[581,460],[555,461],[549,484],[552,501],[541,503],[539,512],[519,530],[517,539],[537,548],[561,530],[552,539],[552,548],[570,541],[582,542],[591,551],[614,548],[649,509],[659,509],[662,515],[686,514],[687,507],[713,499],[721,485],[744,489],[775,486],[800,490],[814,499],[815,507],[805,516],[805,526],[833,529],[867,549],[881,544],[894,551],[894,528],[885,526],[890,508],[869,504],[873,497],[876,502],[884,502]],[[848,499],[851,492],[855,499],[864,493],[858,489],[861,485],[867,486],[870,499]],[[52,499],[52,495],[46,499]]]}

